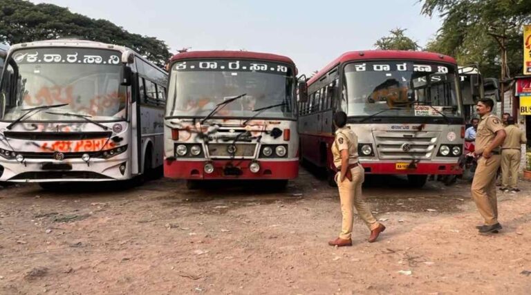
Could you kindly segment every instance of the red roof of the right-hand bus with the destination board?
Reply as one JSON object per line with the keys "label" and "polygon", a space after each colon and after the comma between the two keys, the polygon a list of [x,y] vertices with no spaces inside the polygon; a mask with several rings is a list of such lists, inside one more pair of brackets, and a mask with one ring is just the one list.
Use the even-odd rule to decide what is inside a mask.
{"label": "red roof of the right-hand bus with the destination board", "polygon": [[376,59],[413,59],[413,60],[424,60],[424,61],[445,61],[450,64],[456,64],[456,60],[453,57],[448,55],[441,55],[439,53],[429,53],[426,51],[406,51],[406,50],[361,50],[361,51],[348,51],[343,53],[341,56],[334,59],[327,66],[311,79],[308,80],[308,85],[320,79],[323,75],[328,73],[328,70],[331,70],[338,64],[342,64],[347,61],[367,61],[367,60],[376,60]]}

